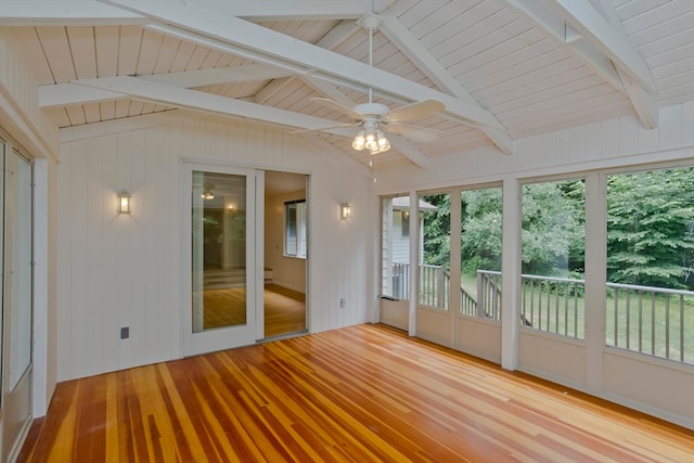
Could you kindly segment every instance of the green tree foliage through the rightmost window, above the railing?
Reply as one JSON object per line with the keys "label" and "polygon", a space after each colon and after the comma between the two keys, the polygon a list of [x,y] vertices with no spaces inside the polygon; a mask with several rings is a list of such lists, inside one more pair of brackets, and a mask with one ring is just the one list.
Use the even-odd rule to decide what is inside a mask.
{"label": "green tree foliage through the rightmost window, above the railing", "polygon": [[607,279],[694,288],[694,169],[612,176],[607,182]]}

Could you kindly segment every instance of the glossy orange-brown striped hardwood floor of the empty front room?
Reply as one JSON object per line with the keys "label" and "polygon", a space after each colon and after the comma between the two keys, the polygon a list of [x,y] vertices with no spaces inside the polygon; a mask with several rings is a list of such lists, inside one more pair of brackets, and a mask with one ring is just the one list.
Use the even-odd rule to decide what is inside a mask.
{"label": "glossy orange-brown striped hardwood floor of the empty front room", "polygon": [[694,432],[384,325],[59,384],[23,462],[692,462]]}

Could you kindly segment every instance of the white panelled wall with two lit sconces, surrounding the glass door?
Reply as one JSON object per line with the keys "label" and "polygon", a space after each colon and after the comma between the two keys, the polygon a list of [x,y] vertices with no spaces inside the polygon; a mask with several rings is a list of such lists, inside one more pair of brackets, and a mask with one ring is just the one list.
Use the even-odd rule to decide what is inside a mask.
{"label": "white panelled wall with two lit sconces, surrounding the glass door", "polygon": [[[57,374],[68,380],[180,356],[181,159],[308,173],[311,332],[361,323],[372,230],[368,171],[279,128],[208,117],[73,141],[57,169]],[[117,216],[116,192],[132,193]],[[349,221],[338,205],[352,204]],[[330,271],[329,271],[330,270]],[[345,298],[345,308],[339,299]],[[119,329],[130,327],[121,340]]]}

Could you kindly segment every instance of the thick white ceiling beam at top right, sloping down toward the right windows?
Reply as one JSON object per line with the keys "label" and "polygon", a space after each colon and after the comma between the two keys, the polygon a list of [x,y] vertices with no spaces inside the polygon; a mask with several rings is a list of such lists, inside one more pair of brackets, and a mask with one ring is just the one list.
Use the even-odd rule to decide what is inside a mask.
{"label": "thick white ceiling beam at top right, sloping down toward the right windows", "polygon": [[[536,27],[543,30],[571,54],[604,78],[631,101],[646,129],[657,126],[655,82],[645,62],[620,34],[588,1],[505,0]],[[555,13],[553,13],[555,12]]]}

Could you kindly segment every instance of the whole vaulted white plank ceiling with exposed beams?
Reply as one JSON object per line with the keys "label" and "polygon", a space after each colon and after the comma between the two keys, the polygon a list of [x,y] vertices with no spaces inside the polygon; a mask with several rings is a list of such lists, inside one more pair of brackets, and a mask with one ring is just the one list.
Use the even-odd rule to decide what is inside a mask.
{"label": "whole vaulted white plank ceiling with exposed beams", "polygon": [[[360,21],[380,20],[373,33]],[[694,0],[2,0],[63,140],[204,114],[299,131],[367,164],[334,105],[397,108],[436,140],[413,162],[694,100]],[[313,130],[320,129],[320,130]],[[407,134],[407,132],[406,132]]]}

